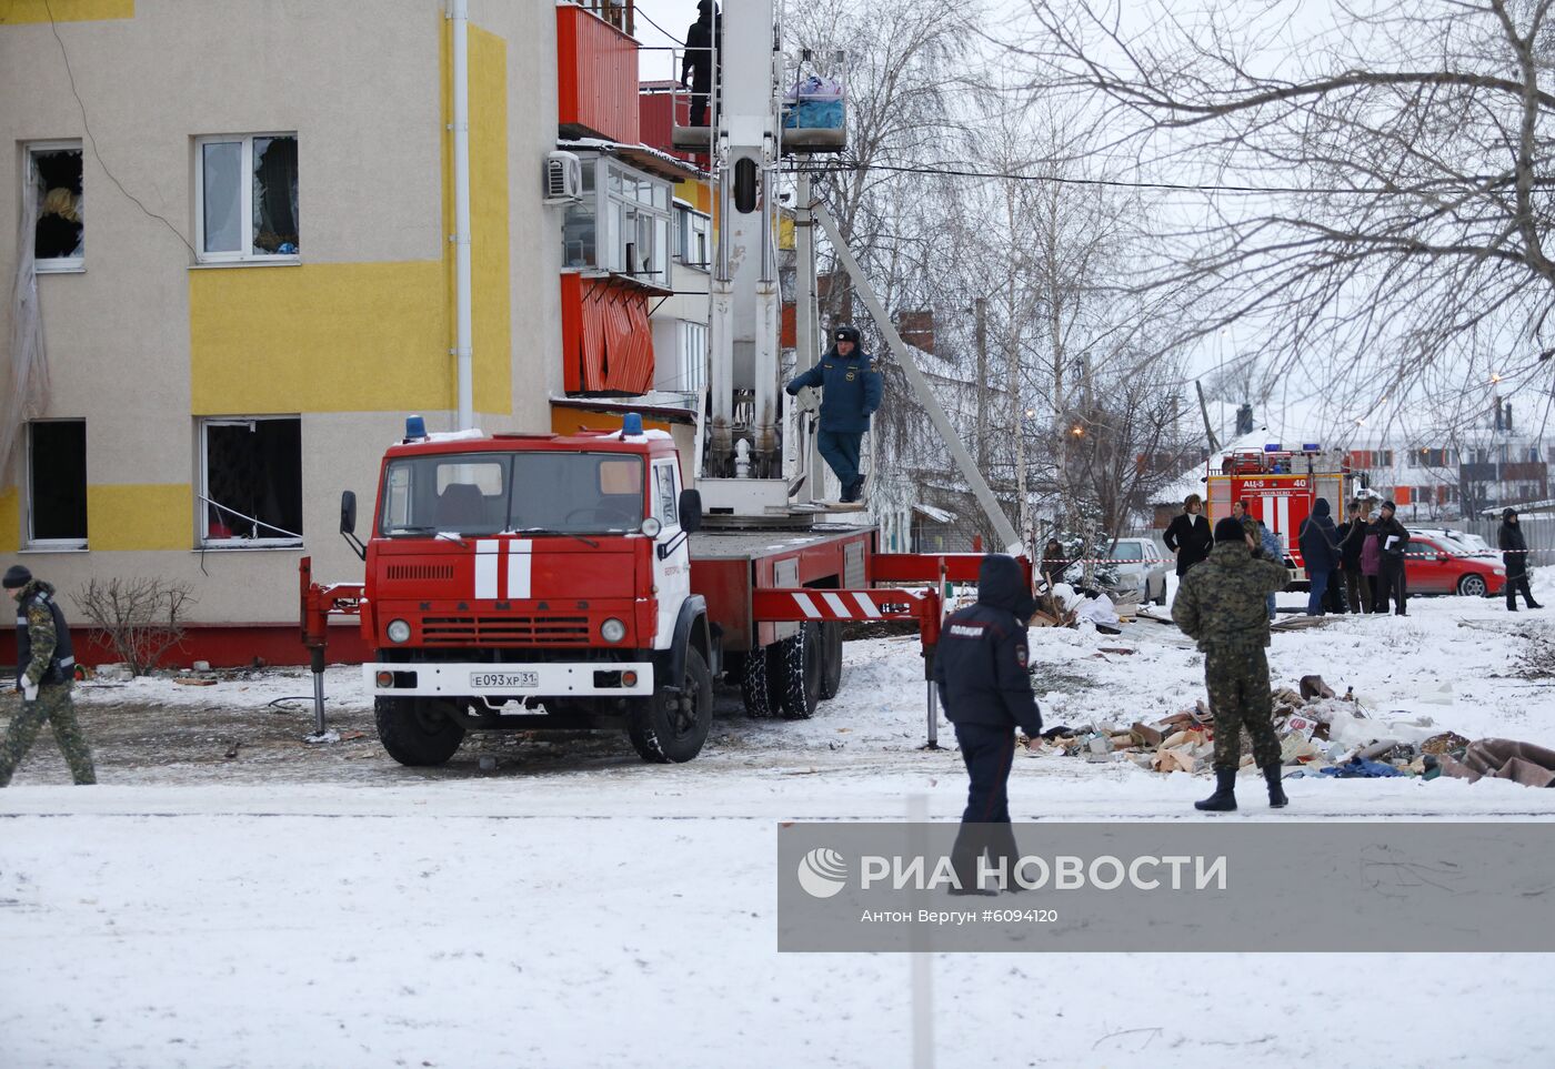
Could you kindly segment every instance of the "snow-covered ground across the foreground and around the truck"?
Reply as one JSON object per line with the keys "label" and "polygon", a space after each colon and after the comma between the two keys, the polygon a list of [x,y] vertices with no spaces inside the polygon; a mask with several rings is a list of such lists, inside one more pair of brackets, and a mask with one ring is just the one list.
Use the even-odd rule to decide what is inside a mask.
{"label": "snow-covered ground across the foreground and around the truck", "polygon": [[[1555,604],[1552,576],[1535,592]],[[1379,713],[1555,746],[1555,679],[1516,674],[1536,632],[1555,612],[1417,598],[1403,620],[1281,634],[1270,665],[1277,685],[1320,673]],[[1033,631],[1033,657],[1048,724],[1202,696],[1158,623]],[[907,956],[774,951],[774,842],[779,820],[894,820],[913,797],[958,816],[958,755],[917,749],[914,640],[849,643],[813,721],[748,721],[725,695],[708,750],[675,768],[569,736],[471,738],[446,769],[401,769],[350,738],[370,732],[356,677],[330,671],[344,738],[325,747],[300,743],[300,705],[271,705],[305,674],[82,688],[104,785],[68,786],[45,738],[0,792],[0,1066],[910,1063]],[[1204,820],[1207,789],[1059,757],[1011,785],[1017,819],[1043,820]],[[1555,819],[1555,792],[1504,782],[1288,789],[1291,810],[1216,819]],[[1429,932],[1420,949],[944,954],[916,1012],[941,1066],[1550,1064],[1529,1027],[1546,959],[1432,956]]]}

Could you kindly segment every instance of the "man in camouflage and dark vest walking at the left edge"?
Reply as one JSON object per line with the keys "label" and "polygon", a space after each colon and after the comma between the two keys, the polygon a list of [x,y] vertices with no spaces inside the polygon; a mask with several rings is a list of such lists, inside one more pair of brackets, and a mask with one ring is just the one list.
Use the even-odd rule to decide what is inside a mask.
{"label": "man in camouflage and dark vest walking at the left edge", "polygon": [[70,701],[76,659],[70,645],[70,628],[54,603],[54,587],[16,564],[0,581],[16,598],[16,685],[22,691],[22,709],[11,716],[5,743],[0,743],[0,786],[11,783],[11,774],[22,763],[33,740],[47,719],[54,729],[54,741],[65,755],[76,783],[96,783],[92,749],[81,733],[76,710]]}

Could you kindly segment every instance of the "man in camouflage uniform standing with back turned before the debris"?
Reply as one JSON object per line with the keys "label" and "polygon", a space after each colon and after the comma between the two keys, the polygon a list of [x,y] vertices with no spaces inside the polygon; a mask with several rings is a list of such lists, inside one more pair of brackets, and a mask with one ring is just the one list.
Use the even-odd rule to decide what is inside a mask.
{"label": "man in camouflage uniform standing with back turned before the debris", "polygon": [[1278,561],[1255,559],[1256,539],[1230,516],[1214,525],[1214,550],[1182,578],[1171,618],[1204,651],[1204,682],[1214,713],[1214,794],[1199,810],[1236,808],[1236,768],[1242,727],[1253,740],[1253,760],[1269,783],[1269,805],[1286,803],[1280,786],[1280,740],[1269,693],[1269,617],[1264,598],[1283,590],[1291,573]]}

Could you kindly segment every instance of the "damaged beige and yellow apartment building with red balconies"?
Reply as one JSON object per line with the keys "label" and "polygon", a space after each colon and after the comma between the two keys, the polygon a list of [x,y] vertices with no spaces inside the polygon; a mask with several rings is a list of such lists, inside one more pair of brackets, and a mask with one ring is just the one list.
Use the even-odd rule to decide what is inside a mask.
{"label": "damaged beige and yellow apartment building with red balconies", "polygon": [[[474,424],[599,415],[574,364],[585,378],[605,365],[569,294],[610,287],[641,311],[670,284],[569,269],[578,199],[558,202],[544,179],[560,131],[592,137],[592,155],[652,183],[664,225],[648,241],[667,259],[683,176],[642,172],[633,149],[652,166],[662,154],[616,152],[611,131],[558,115],[558,70],[583,84],[589,62],[614,64],[636,141],[636,42],[588,3],[470,0],[456,56],[451,11],[0,0],[0,141],[14,154],[0,204],[20,224],[0,227],[14,292],[0,312],[0,550],[54,583],[75,623],[92,580],[156,578],[193,597],[177,660],[295,662],[300,558],[319,576],[359,575],[341,491],[375,499],[407,413],[456,424],[456,61]],[[572,50],[560,67],[558,26]],[[613,343],[639,357],[627,392],[652,401],[647,334],[666,328],[645,311],[614,322]]]}

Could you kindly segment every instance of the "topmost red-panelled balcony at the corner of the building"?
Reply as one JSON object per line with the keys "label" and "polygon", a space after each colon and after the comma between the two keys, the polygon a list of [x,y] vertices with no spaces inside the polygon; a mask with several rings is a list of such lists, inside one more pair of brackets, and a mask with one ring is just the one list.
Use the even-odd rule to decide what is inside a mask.
{"label": "topmost red-panelled balcony at the corner of the building", "polygon": [[557,124],[563,137],[641,140],[631,17],[630,0],[557,5]]}

